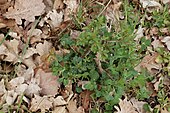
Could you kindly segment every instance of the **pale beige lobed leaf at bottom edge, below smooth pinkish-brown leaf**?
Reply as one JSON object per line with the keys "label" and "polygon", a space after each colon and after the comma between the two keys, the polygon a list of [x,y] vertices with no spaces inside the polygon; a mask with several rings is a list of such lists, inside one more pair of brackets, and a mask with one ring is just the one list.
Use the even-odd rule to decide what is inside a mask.
{"label": "pale beige lobed leaf at bottom edge, below smooth pinkish-brown leaf", "polygon": [[36,112],[37,110],[41,110],[41,112],[45,112],[52,107],[52,102],[49,101],[47,96],[40,97],[38,95],[34,95],[34,98],[31,100],[30,111]]}

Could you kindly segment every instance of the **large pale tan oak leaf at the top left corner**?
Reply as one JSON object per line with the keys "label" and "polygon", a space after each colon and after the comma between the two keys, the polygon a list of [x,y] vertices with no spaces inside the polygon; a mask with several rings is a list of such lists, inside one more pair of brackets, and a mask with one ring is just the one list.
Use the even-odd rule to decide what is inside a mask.
{"label": "large pale tan oak leaf at the top left corner", "polygon": [[15,19],[21,25],[21,19],[34,22],[35,16],[44,13],[45,5],[42,0],[15,0],[14,8],[10,7],[3,16],[8,19]]}

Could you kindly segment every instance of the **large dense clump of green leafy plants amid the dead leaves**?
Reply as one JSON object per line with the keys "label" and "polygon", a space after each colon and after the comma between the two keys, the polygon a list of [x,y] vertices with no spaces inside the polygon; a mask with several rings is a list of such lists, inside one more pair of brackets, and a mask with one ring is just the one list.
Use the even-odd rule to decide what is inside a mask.
{"label": "large dense clump of green leafy plants amid the dead leaves", "polygon": [[[64,85],[71,80],[89,81],[84,87],[93,91],[94,100],[103,99],[105,110],[112,112],[125,92],[139,99],[148,97],[145,73],[138,73],[134,67],[140,61],[140,54],[134,42],[134,29],[138,18],[129,17],[131,8],[126,9],[126,19],[120,23],[120,30],[108,32],[105,17],[94,19],[76,39],[65,34],[60,39],[62,48],[70,50],[57,55],[52,64],[54,75]],[[145,42],[145,41],[144,41]],[[101,71],[102,70],[102,71]],[[83,89],[76,88],[79,93]]]}

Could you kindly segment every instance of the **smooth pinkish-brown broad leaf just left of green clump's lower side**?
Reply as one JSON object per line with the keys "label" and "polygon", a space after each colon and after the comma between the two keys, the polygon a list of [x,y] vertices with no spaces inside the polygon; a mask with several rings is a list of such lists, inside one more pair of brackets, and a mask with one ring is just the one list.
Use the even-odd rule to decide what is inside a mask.
{"label": "smooth pinkish-brown broad leaf just left of green clump's lower side", "polygon": [[46,73],[42,69],[39,69],[35,77],[40,77],[41,94],[43,95],[56,95],[58,94],[59,82],[58,77],[52,75],[52,72]]}

